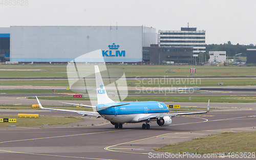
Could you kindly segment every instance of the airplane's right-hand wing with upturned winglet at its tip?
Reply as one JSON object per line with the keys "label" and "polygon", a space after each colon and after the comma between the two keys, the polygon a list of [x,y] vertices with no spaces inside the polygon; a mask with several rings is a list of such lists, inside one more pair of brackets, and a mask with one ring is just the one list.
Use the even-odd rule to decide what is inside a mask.
{"label": "airplane's right-hand wing with upturned winglet at its tip", "polygon": [[208,107],[207,107],[207,111],[204,112],[186,112],[186,113],[159,113],[159,114],[155,114],[155,115],[149,115],[149,116],[145,116],[142,118],[139,118],[138,121],[145,121],[145,120],[150,120],[150,119],[162,119],[165,116],[168,117],[175,117],[175,116],[181,116],[181,115],[194,115],[194,114],[202,114],[202,113],[208,113],[210,111],[210,100],[208,100]]}

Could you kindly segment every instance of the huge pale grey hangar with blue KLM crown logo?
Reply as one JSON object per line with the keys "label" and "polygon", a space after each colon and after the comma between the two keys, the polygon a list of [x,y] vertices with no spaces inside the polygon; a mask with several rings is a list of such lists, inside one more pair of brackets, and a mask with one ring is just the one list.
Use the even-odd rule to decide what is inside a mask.
{"label": "huge pale grey hangar with blue KLM crown logo", "polygon": [[96,50],[105,62],[140,62],[143,47],[158,41],[156,29],[143,26],[11,26],[1,37],[1,53],[18,62],[69,62]]}

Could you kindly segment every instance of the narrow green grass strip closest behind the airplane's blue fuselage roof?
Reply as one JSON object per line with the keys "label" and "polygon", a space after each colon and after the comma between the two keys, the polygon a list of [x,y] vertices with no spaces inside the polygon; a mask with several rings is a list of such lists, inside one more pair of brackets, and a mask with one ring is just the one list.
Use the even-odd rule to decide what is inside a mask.
{"label": "narrow green grass strip closest behind the airplane's blue fuselage roof", "polygon": [[[189,100],[191,97],[191,100]],[[35,99],[29,97],[29,99]],[[38,97],[41,100],[84,100],[89,101],[89,98],[73,98],[73,97]],[[92,100],[97,100],[92,98]],[[228,102],[228,103],[255,103],[255,96],[128,96],[124,101],[160,101],[160,102]]]}

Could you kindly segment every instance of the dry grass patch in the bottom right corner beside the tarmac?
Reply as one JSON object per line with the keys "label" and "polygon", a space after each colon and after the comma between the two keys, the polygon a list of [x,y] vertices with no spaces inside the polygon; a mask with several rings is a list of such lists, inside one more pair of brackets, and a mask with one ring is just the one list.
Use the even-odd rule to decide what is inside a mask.
{"label": "dry grass patch in the bottom right corner beside the tarmac", "polygon": [[212,134],[203,138],[196,138],[179,144],[169,144],[162,148],[156,148],[159,152],[169,153],[219,153],[219,152],[255,152],[256,131]]}

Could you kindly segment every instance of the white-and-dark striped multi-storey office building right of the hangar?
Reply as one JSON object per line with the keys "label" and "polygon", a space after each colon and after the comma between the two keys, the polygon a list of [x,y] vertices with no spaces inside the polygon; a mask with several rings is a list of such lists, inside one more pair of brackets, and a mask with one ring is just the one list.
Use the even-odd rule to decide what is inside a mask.
{"label": "white-and-dark striped multi-storey office building right of the hangar", "polygon": [[160,47],[193,47],[193,53],[205,52],[205,31],[181,28],[181,31],[158,31]]}

